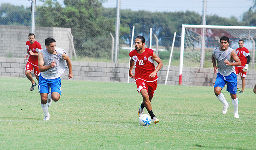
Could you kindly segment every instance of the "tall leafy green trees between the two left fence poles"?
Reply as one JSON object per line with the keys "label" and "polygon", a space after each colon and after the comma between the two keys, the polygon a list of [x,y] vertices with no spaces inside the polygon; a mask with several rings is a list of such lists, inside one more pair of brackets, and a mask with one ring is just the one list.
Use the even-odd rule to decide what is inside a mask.
{"label": "tall leafy green trees between the two left fence poles", "polygon": [[[99,0],[64,0],[62,8],[57,0],[46,0],[39,6],[40,26],[71,28],[74,45],[80,56],[110,56],[111,36],[113,33],[112,19],[102,15],[102,1]],[[90,43],[89,43],[90,42]],[[100,46],[105,42],[110,46]],[[93,45],[93,46],[92,46]]]}

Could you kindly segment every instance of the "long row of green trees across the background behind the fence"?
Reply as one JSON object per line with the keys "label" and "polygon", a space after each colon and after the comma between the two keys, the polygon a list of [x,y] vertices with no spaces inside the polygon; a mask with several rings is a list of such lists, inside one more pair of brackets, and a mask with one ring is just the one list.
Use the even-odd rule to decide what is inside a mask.
{"label": "long row of green trees across the background behind the fence", "polygon": [[[105,0],[64,0],[61,6],[57,0],[42,0],[44,4],[36,7],[36,26],[71,28],[74,46],[81,58],[111,58],[111,36],[115,33],[116,8],[104,8]],[[224,18],[207,15],[207,25],[256,26],[256,0],[250,10],[244,12],[242,21],[237,18]],[[148,41],[149,29],[160,39],[159,46],[170,49],[173,34],[181,35],[181,24],[201,24],[202,16],[195,12],[147,12],[121,10],[120,45],[130,44],[131,31],[142,34]],[[30,25],[31,8],[1,4],[0,24]],[[177,36],[177,39],[179,37]],[[152,41],[155,45],[156,41]],[[180,46],[180,41],[175,41]],[[120,54],[118,54],[121,56]],[[167,55],[166,55],[167,56]],[[122,58],[121,58],[122,59]],[[176,59],[175,59],[176,60]]]}

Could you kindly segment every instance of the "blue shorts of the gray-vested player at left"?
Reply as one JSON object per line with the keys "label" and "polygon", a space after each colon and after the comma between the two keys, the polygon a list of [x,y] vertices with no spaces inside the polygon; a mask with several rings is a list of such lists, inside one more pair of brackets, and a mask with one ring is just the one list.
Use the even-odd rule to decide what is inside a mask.
{"label": "blue shorts of the gray-vested player at left", "polygon": [[56,79],[45,79],[39,75],[39,83],[38,83],[38,90],[39,93],[49,93],[51,87],[51,92],[58,92],[61,95],[61,80],[60,77]]}

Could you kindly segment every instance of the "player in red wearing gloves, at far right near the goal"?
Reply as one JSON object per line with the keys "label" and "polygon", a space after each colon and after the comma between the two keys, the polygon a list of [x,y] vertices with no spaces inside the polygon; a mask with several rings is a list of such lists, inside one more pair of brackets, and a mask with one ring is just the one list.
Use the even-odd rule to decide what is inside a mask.
{"label": "player in red wearing gloves, at far right near the goal", "polygon": [[248,64],[250,63],[251,58],[250,58],[250,53],[249,53],[248,49],[243,46],[244,40],[240,39],[238,41],[238,44],[239,44],[239,48],[237,48],[236,53],[237,53],[242,65],[235,67],[235,72],[237,73],[237,76],[240,73],[240,76],[242,79],[242,90],[240,91],[240,89],[237,86],[237,91],[240,91],[239,94],[243,94],[244,87],[245,87],[246,72],[247,72]]}

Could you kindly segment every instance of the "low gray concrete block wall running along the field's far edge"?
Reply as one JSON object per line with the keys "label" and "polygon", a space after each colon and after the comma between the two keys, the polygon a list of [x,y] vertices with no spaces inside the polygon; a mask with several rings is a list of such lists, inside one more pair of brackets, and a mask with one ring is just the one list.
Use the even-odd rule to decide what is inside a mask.
{"label": "low gray concrete block wall running along the field's far edge", "polygon": [[[25,78],[24,58],[1,58],[0,57],[0,77],[21,77]],[[102,81],[102,82],[122,82],[127,83],[129,63],[102,63],[102,62],[79,62],[71,61],[74,77],[71,80],[81,81]],[[157,73],[158,84],[164,84],[168,66],[164,65]],[[134,69],[133,69],[133,72]],[[213,68],[184,67],[182,80],[186,81],[187,73],[195,73],[192,82],[188,86],[213,86],[216,76]],[[68,79],[68,71],[61,76],[61,79]],[[133,78],[130,83],[135,83]],[[256,83],[256,70],[248,70],[246,76],[246,88],[253,88]],[[179,84],[179,67],[171,66],[168,76],[168,85]],[[242,81],[238,77],[238,85],[242,87]]]}

